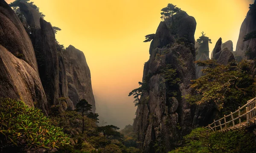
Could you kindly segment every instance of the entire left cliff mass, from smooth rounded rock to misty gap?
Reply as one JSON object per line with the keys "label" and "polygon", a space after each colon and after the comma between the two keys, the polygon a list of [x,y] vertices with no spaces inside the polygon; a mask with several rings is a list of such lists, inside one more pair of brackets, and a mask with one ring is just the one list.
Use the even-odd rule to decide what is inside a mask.
{"label": "entire left cliff mass, from smooth rounded rock to misty gap", "polygon": [[74,110],[81,99],[93,105],[90,69],[83,52],[63,49],[52,25],[31,3],[17,1],[25,21],[0,0],[0,96],[22,99],[45,113],[52,105]]}

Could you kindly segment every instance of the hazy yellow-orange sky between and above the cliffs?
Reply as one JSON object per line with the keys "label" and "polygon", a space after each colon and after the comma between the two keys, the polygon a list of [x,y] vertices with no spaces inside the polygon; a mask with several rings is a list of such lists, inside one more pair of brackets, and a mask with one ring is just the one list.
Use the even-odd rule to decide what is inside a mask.
{"label": "hazy yellow-orange sky between and above the cliffs", "polygon": [[[10,2],[13,0],[7,0]],[[32,0],[33,1],[33,0]],[[128,93],[142,80],[150,43],[160,10],[173,3],[195,17],[195,38],[204,31],[212,39],[232,40],[253,0],[34,0],[45,20],[62,29],[56,39],[65,47],[84,52],[90,67],[96,111],[101,119],[119,127],[132,124],[136,108]]]}

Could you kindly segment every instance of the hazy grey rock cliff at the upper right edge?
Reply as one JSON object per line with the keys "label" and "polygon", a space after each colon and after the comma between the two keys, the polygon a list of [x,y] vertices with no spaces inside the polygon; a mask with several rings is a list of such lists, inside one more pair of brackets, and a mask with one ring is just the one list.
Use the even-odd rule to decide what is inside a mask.
{"label": "hazy grey rock cliff at the upper right edge", "polygon": [[256,38],[252,40],[248,40],[244,42],[244,36],[252,31],[256,31],[256,2],[253,4],[254,6],[250,8],[248,11],[244,22],[241,25],[239,38],[236,45],[236,55],[241,56],[243,59],[245,58],[245,52],[251,48],[251,56],[250,59],[256,57]]}

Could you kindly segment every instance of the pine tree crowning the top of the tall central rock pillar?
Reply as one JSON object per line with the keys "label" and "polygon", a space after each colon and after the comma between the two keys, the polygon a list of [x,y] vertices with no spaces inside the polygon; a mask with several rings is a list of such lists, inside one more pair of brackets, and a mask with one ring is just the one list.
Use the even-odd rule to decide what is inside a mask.
{"label": "pine tree crowning the top of the tall central rock pillar", "polygon": [[165,20],[168,17],[172,18],[172,22],[174,23],[173,16],[180,11],[180,8],[176,7],[175,5],[169,3],[167,7],[161,9],[161,18]]}

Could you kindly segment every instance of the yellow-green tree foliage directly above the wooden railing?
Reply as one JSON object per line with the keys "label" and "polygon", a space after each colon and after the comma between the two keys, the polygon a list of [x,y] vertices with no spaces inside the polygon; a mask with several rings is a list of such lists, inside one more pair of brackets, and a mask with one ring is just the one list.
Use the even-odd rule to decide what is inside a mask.
{"label": "yellow-green tree foliage directly above the wooden railing", "polygon": [[244,105],[255,96],[256,82],[250,74],[250,64],[243,60],[239,63],[220,65],[215,60],[197,61],[204,76],[192,80],[191,88],[197,92],[187,100],[197,105],[215,105],[224,114]]}

